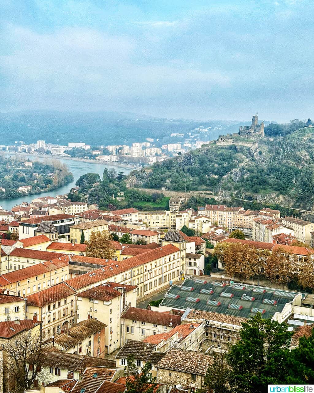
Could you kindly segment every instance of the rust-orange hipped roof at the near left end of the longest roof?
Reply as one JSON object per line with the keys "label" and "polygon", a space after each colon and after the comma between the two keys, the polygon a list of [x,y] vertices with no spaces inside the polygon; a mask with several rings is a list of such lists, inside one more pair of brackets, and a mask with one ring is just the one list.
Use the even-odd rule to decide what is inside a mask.
{"label": "rust-orange hipped roof at the near left end of the longest roof", "polygon": [[59,299],[64,299],[67,296],[75,294],[75,290],[70,288],[66,283],[60,283],[51,286],[50,288],[42,289],[39,292],[28,295],[26,304],[28,306],[44,307],[47,304],[53,303]]}

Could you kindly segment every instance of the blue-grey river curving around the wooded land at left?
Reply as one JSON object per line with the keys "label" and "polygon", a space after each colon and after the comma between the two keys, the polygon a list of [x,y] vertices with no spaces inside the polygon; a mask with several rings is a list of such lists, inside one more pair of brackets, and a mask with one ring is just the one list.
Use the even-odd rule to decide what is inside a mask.
{"label": "blue-grey river curving around the wooded land at left", "polygon": [[[8,153],[5,154],[6,156],[13,156],[15,153]],[[69,172],[72,172],[73,174],[73,182],[63,185],[62,187],[58,187],[53,191],[47,191],[47,192],[42,192],[42,193],[37,193],[37,194],[32,194],[32,195],[24,195],[24,196],[19,196],[18,198],[10,198],[10,199],[0,199],[0,206],[2,206],[3,209],[5,210],[11,210],[13,206],[19,205],[22,202],[30,202],[32,199],[38,198],[39,196],[55,196],[55,195],[63,195],[66,194],[70,191],[71,187],[75,187],[75,182],[79,179],[80,176],[82,176],[85,173],[98,173],[100,178],[102,177],[102,174],[104,173],[104,169],[107,167],[108,169],[110,168],[115,168],[117,171],[122,171],[124,174],[128,174],[131,171],[133,171],[132,168],[126,168],[123,166],[120,166],[119,164],[110,164],[110,163],[101,163],[101,162],[85,162],[85,161],[75,161],[75,160],[65,160],[62,158],[50,158],[47,156],[38,156],[37,154],[23,154],[23,156],[27,156],[32,161],[44,161],[44,160],[58,160],[65,165],[67,165]],[[27,160],[26,158],[26,160]]]}

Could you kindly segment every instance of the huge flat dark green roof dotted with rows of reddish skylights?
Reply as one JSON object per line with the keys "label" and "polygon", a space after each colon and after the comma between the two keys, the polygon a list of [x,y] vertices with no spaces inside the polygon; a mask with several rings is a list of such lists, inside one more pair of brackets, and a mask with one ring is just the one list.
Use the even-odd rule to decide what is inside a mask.
{"label": "huge flat dark green roof dotted with rows of reddish skylights", "polygon": [[[286,303],[298,295],[298,292],[276,290],[274,288],[261,288],[259,286],[239,285],[236,283],[221,286],[219,282],[215,285],[211,281],[206,283],[203,283],[203,280],[202,282],[200,281],[186,279],[181,286],[172,285],[162,300],[161,305],[184,310],[189,307],[190,309],[240,316],[243,318],[255,316],[257,310],[263,310],[263,312],[261,311],[263,318],[272,318],[275,312],[281,312]],[[184,290],[186,287],[192,290]],[[204,293],[204,290],[208,292]],[[263,292],[264,290],[265,292]],[[242,298],[243,295],[246,296],[245,299]],[[177,296],[179,298],[175,298]],[[250,297],[254,298],[254,300],[251,301],[248,299]],[[195,299],[199,299],[199,301],[195,302]],[[217,301],[220,304],[211,305],[207,303],[208,301]],[[275,307],[272,301],[276,301]],[[239,309],[237,309],[238,307]]]}

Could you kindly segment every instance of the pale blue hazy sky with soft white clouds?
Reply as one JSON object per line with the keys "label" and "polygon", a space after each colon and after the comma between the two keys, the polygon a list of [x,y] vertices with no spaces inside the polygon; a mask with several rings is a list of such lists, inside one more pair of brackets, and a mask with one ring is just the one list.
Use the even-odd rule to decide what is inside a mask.
{"label": "pale blue hazy sky with soft white clouds", "polygon": [[2,0],[0,111],[313,117],[313,0]]}

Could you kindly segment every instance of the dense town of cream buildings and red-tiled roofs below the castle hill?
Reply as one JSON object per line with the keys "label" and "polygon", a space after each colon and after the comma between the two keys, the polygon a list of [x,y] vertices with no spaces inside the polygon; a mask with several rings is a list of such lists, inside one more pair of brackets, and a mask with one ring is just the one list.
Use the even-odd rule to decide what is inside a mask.
{"label": "dense town of cream buildings and red-tiled roofs below the castle hill", "polygon": [[[314,223],[185,202],[100,210],[59,195],[0,211],[4,392],[124,392],[132,361],[153,391],[205,392],[215,354],[241,343],[250,318],[285,326],[289,350],[311,336]],[[97,234],[110,257],[91,256]]]}

